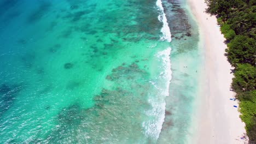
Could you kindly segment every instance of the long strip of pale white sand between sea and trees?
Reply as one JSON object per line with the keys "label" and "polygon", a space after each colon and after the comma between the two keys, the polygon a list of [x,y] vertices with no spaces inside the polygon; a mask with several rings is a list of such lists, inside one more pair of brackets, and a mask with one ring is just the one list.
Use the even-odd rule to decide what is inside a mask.
{"label": "long strip of pale white sand between sea and trees", "polygon": [[205,55],[202,69],[202,96],[200,116],[196,125],[193,143],[247,143],[241,140],[245,135],[245,123],[239,117],[237,101],[232,101],[234,92],[230,91],[233,75],[231,65],[224,56],[226,45],[220,33],[215,16],[204,13],[207,7],[204,0],[189,0],[190,8],[199,24],[200,38]]}

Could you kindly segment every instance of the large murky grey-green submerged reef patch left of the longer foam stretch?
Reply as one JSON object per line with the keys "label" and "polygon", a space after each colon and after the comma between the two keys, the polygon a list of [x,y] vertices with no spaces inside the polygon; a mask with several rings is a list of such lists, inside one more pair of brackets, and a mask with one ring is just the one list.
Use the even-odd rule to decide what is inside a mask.
{"label": "large murky grey-green submerged reef patch left of the longer foam stretch", "polygon": [[[83,108],[79,103],[63,108],[56,116],[58,123],[56,128],[45,140],[36,141],[46,143],[140,141],[144,137],[141,123],[146,121],[147,117],[144,111],[151,107],[145,93],[150,85],[143,81],[147,75],[146,71],[139,69],[136,63],[114,68],[106,79],[115,81],[117,83],[115,87],[102,88],[101,93],[94,97],[95,105],[89,109]],[[136,127],[131,127],[131,123]]]}

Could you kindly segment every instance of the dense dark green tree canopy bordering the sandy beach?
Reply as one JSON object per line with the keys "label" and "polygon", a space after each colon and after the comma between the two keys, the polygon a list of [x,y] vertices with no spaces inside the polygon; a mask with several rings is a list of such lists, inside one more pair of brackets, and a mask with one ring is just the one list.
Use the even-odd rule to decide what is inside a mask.
{"label": "dense dark green tree canopy bordering the sandy beach", "polygon": [[240,100],[240,118],[246,124],[249,143],[256,143],[256,1],[205,0],[207,13],[217,16],[234,67],[231,88]]}

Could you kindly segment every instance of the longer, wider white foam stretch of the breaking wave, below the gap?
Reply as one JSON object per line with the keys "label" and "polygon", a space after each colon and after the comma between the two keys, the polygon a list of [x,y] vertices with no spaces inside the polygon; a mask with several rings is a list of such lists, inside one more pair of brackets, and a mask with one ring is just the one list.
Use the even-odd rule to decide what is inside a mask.
{"label": "longer, wider white foam stretch of the breaking wave, below the gap", "polygon": [[148,116],[155,117],[153,121],[144,122],[142,125],[146,129],[146,135],[158,139],[162,129],[162,123],[165,119],[165,100],[164,98],[169,95],[169,86],[172,79],[171,61],[170,61],[171,47],[157,54],[159,61],[162,63],[160,69],[163,69],[157,77],[156,82],[149,81],[160,92],[158,97],[150,97],[148,100],[152,105],[152,109],[147,111]]}

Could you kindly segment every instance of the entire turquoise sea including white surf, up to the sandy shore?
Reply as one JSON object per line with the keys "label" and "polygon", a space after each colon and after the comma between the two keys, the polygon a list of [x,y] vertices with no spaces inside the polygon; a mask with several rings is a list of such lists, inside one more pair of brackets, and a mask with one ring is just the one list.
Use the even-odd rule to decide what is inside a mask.
{"label": "entire turquoise sea including white surf, up to the sandy shore", "polygon": [[0,143],[184,143],[200,50],[185,1],[0,1]]}

